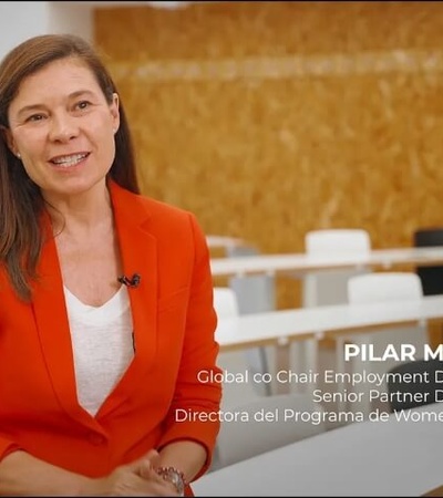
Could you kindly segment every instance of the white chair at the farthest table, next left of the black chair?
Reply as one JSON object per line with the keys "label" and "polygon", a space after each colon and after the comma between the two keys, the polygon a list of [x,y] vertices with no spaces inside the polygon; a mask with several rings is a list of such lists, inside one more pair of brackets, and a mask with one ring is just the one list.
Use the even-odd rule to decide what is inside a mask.
{"label": "white chair at the farthest table, next left of the black chair", "polygon": [[[305,251],[308,256],[364,255],[371,250],[367,230],[360,228],[336,228],[308,231]],[[339,304],[348,300],[348,280],[370,270],[342,269],[309,272],[303,279],[302,304],[305,307]]]}

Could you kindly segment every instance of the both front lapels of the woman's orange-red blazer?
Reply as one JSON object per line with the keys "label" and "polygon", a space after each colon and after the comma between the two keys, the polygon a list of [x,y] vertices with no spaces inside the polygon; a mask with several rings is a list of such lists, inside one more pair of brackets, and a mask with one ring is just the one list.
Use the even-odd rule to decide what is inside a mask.
{"label": "both front lapels of the woman's orange-red blazer", "polygon": [[[123,273],[138,273],[137,287],[127,288],[133,317],[134,360],[101,406],[96,417],[115,409],[140,385],[143,375],[153,367],[156,356],[157,317],[157,249],[156,239],[146,229],[148,212],[143,203],[116,184],[110,184],[114,218],[119,236]],[[55,241],[49,218],[43,221],[48,241],[39,264],[39,282],[34,286],[33,311],[42,352],[52,385],[63,408],[86,425],[95,425],[76,397],[75,372],[64,301],[63,281]]]}

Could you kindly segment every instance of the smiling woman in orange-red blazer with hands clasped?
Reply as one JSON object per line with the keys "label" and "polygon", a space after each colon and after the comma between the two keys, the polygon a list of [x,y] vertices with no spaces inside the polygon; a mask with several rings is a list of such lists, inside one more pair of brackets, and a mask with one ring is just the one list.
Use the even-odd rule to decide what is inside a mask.
{"label": "smiling woman in orange-red blazer with hands clasped", "polygon": [[138,194],[84,40],[3,59],[0,126],[0,495],[192,495],[220,402],[202,230]]}

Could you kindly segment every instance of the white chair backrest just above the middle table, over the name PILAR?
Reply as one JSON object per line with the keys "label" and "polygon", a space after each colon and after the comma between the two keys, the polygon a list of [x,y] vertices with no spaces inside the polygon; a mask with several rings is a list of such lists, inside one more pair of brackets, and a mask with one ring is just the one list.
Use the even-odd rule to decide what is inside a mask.
{"label": "white chair backrest just above the middle table, over the name PILAR", "polygon": [[389,271],[356,276],[348,282],[351,303],[421,299],[420,277],[413,272]]}

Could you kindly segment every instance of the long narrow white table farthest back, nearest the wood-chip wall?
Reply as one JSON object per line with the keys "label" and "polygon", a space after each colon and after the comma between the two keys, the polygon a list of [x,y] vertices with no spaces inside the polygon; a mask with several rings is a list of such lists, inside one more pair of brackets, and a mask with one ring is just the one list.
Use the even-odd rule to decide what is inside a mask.
{"label": "long narrow white table farthest back, nearest the wood-chip wall", "polygon": [[346,268],[390,269],[399,264],[443,264],[443,247],[418,247],[396,249],[373,249],[367,255],[308,256],[306,253],[280,253],[213,258],[210,269],[214,277],[246,276],[295,272],[300,276],[320,270]]}

